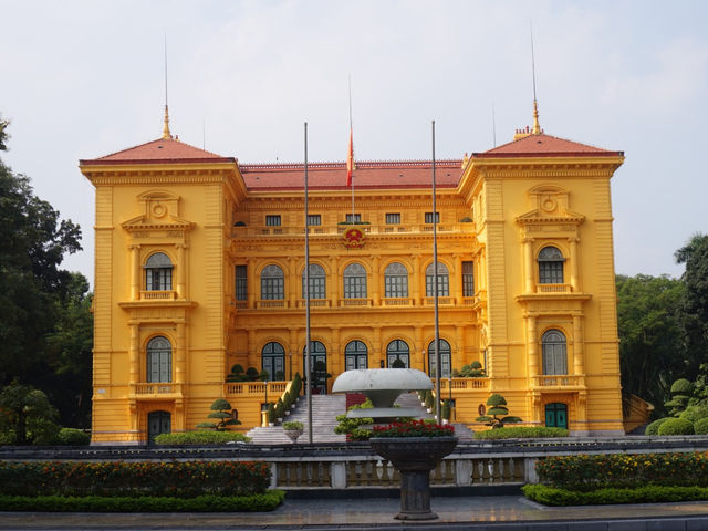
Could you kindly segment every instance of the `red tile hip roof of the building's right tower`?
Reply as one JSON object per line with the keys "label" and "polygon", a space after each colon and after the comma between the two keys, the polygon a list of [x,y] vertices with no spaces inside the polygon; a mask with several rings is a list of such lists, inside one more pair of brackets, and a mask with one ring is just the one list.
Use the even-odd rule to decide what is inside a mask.
{"label": "red tile hip roof of the building's right tower", "polygon": [[624,156],[623,152],[610,152],[600,147],[566,140],[556,136],[529,135],[483,153],[473,153],[472,158],[506,157],[608,157]]}

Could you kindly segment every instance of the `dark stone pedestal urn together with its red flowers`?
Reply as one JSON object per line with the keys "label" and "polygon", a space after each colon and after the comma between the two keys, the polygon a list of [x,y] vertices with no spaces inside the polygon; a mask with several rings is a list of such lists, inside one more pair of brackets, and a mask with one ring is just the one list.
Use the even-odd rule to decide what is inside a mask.
{"label": "dark stone pedestal urn together with its red flowers", "polygon": [[455,449],[455,428],[425,420],[406,420],[374,426],[368,440],[373,450],[389,460],[400,473],[400,512],[394,518],[438,518],[430,510],[430,471]]}

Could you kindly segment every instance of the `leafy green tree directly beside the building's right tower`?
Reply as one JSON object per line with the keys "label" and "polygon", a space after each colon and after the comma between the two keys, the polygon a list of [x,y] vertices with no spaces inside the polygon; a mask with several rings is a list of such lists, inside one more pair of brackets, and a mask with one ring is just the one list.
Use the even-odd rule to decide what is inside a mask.
{"label": "leafy green tree directly beside the building's right tower", "polygon": [[677,310],[684,284],[647,274],[617,275],[616,284],[622,388],[660,409],[686,369]]}

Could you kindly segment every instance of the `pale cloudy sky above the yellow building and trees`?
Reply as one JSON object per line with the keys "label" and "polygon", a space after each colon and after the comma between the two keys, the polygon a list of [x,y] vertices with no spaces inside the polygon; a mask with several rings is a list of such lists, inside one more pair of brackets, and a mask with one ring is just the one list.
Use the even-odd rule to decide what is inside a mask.
{"label": "pale cloudy sky above the yellow building and trees", "polygon": [[79,160],[170,128],[241,163],[461,158],[531,125],[625,152],[615,269],[680,277],[708,232],[708,2],[653,0],[0,0],[0,156],[81,225],[62,267],[93,279]]}

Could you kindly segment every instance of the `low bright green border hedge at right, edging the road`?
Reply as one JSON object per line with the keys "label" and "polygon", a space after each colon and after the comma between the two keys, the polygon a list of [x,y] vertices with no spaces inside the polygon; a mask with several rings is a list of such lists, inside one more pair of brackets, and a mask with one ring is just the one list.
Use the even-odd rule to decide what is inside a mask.
{"label": "low bright green border hedge at right, edging the road", "polygon": [[656,503],[708,500],[706,487],[666,487],[649,485],[634,489],[604,488],[591,492],[558,489],[545,485],[525,485],[524,496],[544,506],[603,506],[611,503]]}

